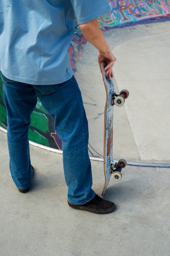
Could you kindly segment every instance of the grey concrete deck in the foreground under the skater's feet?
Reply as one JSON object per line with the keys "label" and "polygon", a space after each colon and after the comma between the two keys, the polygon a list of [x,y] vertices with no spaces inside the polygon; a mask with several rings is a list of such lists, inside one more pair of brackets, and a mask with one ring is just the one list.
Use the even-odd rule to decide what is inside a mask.
{"label": "grey concrete deck in the foreground under the skater's feet", "polygon": [[[35,175],[22,194],[9,174],[3,132],[0,145],[0,256],[170,255],[170,169],[126,166],[104,195],[115,212],[97,215],[68,206],[61,154],[30,146]],[[101,195],[103,162],[91,163]]]}

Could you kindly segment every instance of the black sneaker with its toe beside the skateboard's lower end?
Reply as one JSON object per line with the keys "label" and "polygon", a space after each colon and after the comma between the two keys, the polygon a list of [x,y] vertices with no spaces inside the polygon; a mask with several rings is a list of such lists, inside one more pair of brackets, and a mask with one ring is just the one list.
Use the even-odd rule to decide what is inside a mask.
{"label": "black sneaker with its toe beside the skateboard's lower end", "polygon": [[115,204],[100,198],[99,195],[95,195],[95,197],[86,204],[75,205],[68,202],[68,205],[75,209],[90,211],[97,214],[106,214],[115,211]]}

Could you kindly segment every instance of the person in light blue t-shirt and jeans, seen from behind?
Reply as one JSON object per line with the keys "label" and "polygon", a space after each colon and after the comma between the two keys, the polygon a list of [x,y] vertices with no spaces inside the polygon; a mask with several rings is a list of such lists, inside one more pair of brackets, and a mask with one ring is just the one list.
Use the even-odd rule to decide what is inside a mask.
{"label": "person in light blue t-shirt and jeans, seen from behind", "polygon": [[0,1],[0,74],[13,182],[21,193],[30,189],[33,166],[28,130],[38,97],[62,139],[68,205],[98,214],[113,212],[115,204],[91,188],[88,122],[68,46],[76,17],[86,39],[99,51],[99,67],[106,62],[106,74],[113,77],[116,58],[97,19],[108,11],[107,0]]}

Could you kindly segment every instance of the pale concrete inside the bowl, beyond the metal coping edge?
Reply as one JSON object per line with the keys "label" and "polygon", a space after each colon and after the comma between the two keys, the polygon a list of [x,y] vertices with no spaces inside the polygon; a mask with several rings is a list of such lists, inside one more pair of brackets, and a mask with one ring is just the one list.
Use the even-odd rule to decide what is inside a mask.
{"label": "pale concrete inside the bowl, beyond the metal coping edge", "polygon": [[[104,32],[117,57],[116,92],[128,89],[123,107],[114,108],[115,159],[170,163],[170,21]],[[89,153],[103,157],[106,92],[97,50],[87,43],[77,63],[89,122]]]}

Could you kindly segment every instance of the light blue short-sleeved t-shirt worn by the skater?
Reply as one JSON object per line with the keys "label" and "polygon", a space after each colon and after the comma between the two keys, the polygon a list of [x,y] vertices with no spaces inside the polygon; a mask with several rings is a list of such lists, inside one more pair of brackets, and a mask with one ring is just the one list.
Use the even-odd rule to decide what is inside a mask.
{"label": "light blue short-sleeved t-shirt worn by the skater", "polygon": [[83,24],[108,11],[107,0],[0,0],[0,71],[33,85],[67,81],[75,16]]}

